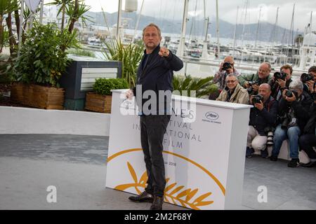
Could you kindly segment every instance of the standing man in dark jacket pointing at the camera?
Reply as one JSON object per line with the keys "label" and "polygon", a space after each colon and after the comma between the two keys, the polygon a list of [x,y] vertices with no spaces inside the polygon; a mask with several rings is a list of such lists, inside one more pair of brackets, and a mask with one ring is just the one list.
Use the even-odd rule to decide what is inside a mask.
{"label": "standing man in dark jacket pointing at the camera", "polygon": [[[161,210],[166,186],[163,139],[171,117],[173,71],[183,68],[183,62],[166,48],[160,48],[161,31],[150,24],[143,29],[145,52],[137,73],[137,86],[126,92],[136,96],[140,109],[140,141],[145,156],[147,187],[133,202],[152,202],[150,209]],[[150,98],[150,99],[148,99]]]}

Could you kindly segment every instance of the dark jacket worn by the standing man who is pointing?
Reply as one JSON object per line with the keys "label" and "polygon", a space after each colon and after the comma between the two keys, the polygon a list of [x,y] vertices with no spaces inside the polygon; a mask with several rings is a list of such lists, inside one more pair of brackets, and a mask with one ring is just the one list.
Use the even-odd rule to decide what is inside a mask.
{"label": "dark jacket worn by the standing man who is pointing", "polygon": [[[162,102],[164,104],[164,113],[170,114],[171,111],[166,111],[166,104],[168,104],[168,102],[171,102],[171,95],[170,97],[159,99],[159,90],[170,90],[170,92],[173,91],[173,71],[179,71],[180,69],[182,69],[183,62],[176,55],[173,55],[171,51],[169,51],[168,57],[161,57],[158,55],[159,50],[160,45],[158,45],[151,54],[147,55],[147,62],[143,63],[146,55],[146,50],[144,51],[143,59],[138,66],[136,85],[141,85],[142,87],[141,96],[143,96],[143,92],[145,92],[146,90],[153,90],[156,93],[157,106],[155,111],[157,112],[157,114],[159,112],[162,112],[162,109],[160,109],[159,111],[159,102]],[[139,92],[136,91],[136,87],[133,89],[133,92],[136,96],[138,106],[141,106],[143,109],[143,105],[145,104],[145,102],[150,99],[143,99],[142,97],[142,100],[140,100],[138,96]],[[140,111],[140,113],[143,113],[143,110]]]}

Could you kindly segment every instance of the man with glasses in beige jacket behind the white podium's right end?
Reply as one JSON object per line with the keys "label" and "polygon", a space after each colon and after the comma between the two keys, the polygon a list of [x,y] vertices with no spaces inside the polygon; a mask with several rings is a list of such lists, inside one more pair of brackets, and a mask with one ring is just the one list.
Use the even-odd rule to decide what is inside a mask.
{"label": "man with glasses in beige jacket behind the white podium's right end", "polygon": [[238,83],[237,77],[231,73],[226,77],[227,86],[220,92],[218,101],[236,103],[236,104],[249,104],[248,92]]}

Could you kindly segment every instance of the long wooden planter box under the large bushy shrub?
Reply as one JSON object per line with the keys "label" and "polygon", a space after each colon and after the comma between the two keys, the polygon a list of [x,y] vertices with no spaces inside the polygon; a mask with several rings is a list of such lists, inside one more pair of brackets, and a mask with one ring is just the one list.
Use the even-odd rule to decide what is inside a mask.
{"label": "long wooden planter box under the large bushy shrub", "polygon": [[11,99],[14,102],[40,109],[64,109],[64,89],[41,85],[13,83]]}

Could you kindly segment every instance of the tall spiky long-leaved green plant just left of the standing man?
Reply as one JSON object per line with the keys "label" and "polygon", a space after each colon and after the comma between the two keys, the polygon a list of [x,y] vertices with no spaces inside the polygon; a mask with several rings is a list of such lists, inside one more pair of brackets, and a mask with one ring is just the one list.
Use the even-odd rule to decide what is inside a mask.
{"label": "tall spiky long-leaved green plant just left of the standing man", "polygon": [[123,45],[121,41],[104,43],[109,51],[105,51],[105,57],[114,61],[120,61],[122,63],[122,78],[127,80],[130,88],[135,87],[138,64],[143,57],[143,45],[133,43]]}

